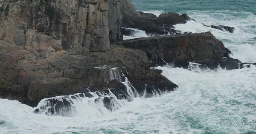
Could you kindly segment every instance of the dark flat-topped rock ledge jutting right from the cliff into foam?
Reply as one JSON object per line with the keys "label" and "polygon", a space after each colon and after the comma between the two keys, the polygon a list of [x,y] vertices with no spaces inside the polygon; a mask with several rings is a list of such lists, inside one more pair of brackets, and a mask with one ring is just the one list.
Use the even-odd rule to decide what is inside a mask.
{"label": "dark flat-topped rock ledge jutting right from the cliff into foam", "polygon": [[[210,32],[131,39],[116,44],[143,50],[151,67],[173,62],[176,67],[187,68],[189,61],[206,64],[209,68],[217,67],[218,63],[228,70],[236,68],[230,65],[235,62],[229,58],[230,50]],[[224,60],[224,57],[228,59]],[[237,60],[237,67],[238,63]]]}

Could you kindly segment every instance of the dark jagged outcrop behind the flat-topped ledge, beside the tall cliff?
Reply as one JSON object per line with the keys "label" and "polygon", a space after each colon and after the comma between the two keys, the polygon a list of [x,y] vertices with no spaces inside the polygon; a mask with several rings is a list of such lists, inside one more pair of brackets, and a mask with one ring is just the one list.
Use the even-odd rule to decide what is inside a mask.
{"label": "dark jagged outcrop behind the flat-topped ledge, beside the tall cliff", "polygon": [[186,23],[186,21],[190,20],[187,14],[167,13],[157,17],[154,14],[138,12],[130,3],[130,0],[122,0],[120,8],[123,15],[123,27],[138,28],[146,33],[156,35],[177,33],[172,25]]}

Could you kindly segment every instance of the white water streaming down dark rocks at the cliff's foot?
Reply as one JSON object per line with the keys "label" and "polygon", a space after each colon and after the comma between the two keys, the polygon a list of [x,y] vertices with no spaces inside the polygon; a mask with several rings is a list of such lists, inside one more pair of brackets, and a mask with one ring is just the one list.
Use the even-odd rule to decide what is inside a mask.
{"label": "white water streaming down dark rocks at the cliff's foot", "polygon": [[[147,89],[145,87],[142,95],[139,95],[137,89],[128,81],[128,78],[117,67],[95,67],[103,69],[108,76],[105,76],[106,83],[110,85],[119,83],[120,87],[110,89],[84,88],[85,93],[78,93],[68,96],[56,96],[53,98],[45,98],[38,103],[35,113],[45,113],[50,116],[61,115],[72,117],[79,112],[79,107],[91,107],[97,112],[112,112],[120,109],[125,102],[132,101],[133,98],[142,96],[149,98],[161,95],[159,89]],[[109,71],[109,72],[108,72]],[[108,72],[108,73],[107,73]],[[122,75],[121,75],[122,74]],[[96,91],[95,91],[96,90]]]}

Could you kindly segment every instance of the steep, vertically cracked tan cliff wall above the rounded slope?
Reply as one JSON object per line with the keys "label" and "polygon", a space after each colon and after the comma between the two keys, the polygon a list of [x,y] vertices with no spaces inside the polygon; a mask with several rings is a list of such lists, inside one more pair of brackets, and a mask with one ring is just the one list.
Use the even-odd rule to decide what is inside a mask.
{"label": "steep, vertically cracked tan cliff wall above the rounded slope", "polygon": [[[56,48],[49,48],[52,51],[86,53],[105,52],[109,49],[108,3],[104,0],[3,2],[0,13],[0,39],[8,43],[30,48],[29,43],[35,42],[35,39],[45,40],[44,42],[50,39],[58,44]],[[25,36],[32,40],[26,42]]]}

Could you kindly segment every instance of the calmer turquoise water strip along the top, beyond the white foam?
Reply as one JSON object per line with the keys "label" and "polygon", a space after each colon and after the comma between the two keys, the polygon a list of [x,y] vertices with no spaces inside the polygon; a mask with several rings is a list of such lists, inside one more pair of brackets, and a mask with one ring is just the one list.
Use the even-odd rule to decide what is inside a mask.
{"label": "calmer turquoise water strip along the top, beyond the white foam", "polygon": [[256,14],[255,0],[131,0],[137,10],[165,12],[246,11]]}

